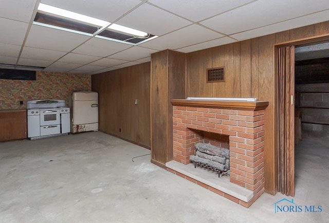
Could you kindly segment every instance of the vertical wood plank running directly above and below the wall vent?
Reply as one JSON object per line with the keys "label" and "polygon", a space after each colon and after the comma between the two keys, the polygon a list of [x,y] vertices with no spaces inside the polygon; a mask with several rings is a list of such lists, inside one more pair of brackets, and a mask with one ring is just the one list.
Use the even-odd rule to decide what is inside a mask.
{"label": "vertical wood plank running directly above and below the wall vent", "polygon": [[[225,67],[225,47],[218,46],[212,48],[212,67]],[[226,71],[225,71],[226,73]],[[212,96],[216,98],[225,97],[225,82],[209,83],[212,85]]]}

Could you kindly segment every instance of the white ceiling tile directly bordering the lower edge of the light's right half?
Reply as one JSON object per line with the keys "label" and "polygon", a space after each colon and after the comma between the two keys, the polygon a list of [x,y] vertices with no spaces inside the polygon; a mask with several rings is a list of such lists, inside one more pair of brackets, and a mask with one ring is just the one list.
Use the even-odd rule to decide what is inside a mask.
{"label": "white ceiling tile directly bordering the lower edge of the light's right half", "polygon": [[119,43],[115,41],[93,38],[72,52],[94,55],[97,57],[107,57],[113,53],[131,47],[129,44]]}

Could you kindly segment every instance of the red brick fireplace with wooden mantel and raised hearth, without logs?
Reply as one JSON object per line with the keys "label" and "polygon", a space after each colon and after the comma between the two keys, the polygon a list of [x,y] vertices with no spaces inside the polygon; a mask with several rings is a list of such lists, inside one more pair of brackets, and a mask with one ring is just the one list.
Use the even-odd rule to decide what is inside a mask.
{"label": "red brick fireplace with wooden mantel and raised hearth, without logs", "polygon": [[[167,170],[249,207],[264,192],[264,114],[268,102],[172,100],[172,104],[174,160],[166,164]],[[247,197],[230,189],[218,190],[193,179],[193,174],[172,168],[172,164],[189,164],[198,142],[229,147],[229,187],[239,185],[243,189],[237,190],[249,194]]]}

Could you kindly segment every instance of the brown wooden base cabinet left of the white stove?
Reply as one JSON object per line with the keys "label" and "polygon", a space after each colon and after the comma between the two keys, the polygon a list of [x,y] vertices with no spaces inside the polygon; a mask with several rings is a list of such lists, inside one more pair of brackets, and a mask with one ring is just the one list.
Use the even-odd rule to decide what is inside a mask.
{"label": "brown wooden base cabinet left of the white stove", "polygon": [[26,138],[26,110],[0,110],[0,141]]}

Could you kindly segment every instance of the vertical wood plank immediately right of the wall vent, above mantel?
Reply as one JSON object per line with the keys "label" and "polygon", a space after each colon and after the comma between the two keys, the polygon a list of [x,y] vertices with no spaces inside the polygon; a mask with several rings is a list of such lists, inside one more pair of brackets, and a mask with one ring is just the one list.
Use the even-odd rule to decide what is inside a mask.
{"label": "vertical wood plank immediately right of the wall vent, above mantel", "polygon": [[225,97],[234,97],[234,45],[225,45]]}

